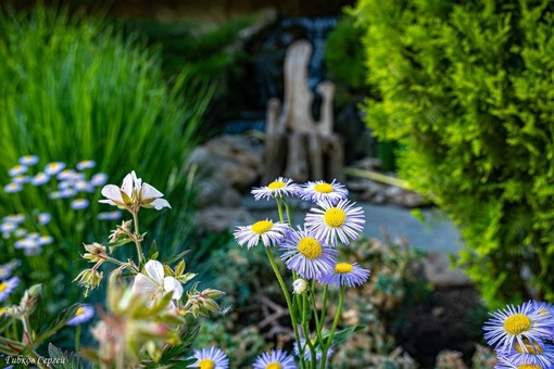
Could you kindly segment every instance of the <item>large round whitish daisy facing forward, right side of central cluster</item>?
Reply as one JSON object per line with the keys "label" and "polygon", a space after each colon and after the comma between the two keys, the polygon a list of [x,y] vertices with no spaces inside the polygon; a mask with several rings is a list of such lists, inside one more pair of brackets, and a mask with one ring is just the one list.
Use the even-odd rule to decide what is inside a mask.
{"label": "large round whitish daisy facing forward, right side of central cluster", "polygon": [[332,204],[329,200],[317,202],[320,208],[312,208],[305,217],[305,227],[325,243],[337,245],[337,238],[344,244],[358,238],[364,230],[362,207],[353,207],[347,199]]}

